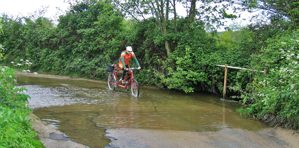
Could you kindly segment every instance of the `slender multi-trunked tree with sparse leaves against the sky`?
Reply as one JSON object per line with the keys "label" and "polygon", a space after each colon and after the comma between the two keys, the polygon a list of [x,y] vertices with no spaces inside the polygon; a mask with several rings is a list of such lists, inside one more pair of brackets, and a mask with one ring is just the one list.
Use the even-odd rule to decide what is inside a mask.
{"label": "slender multi-trunked tree with sparse leaves against the sky", "polygon": [[[169,48],[169,39],[167,38],[170,28],[175,30],[177,34],[177,11],[176,5],[183,4],[188,12],[186,30],[190,31],[193,28],[194,21],[205,20],[211,21],[213,23],[218,23],[222,25],[220,19],[223,18],[236,18],[236,15],[226,13],[226,9],[231,6],[230,4],[222,4],[222,7],[219,5],[222,0],[216,1],[206,1],[206,0],[185,0],[185,1],[169,1],[169,0],[150,0],[150,1],[139,1],[139,0],[126,0],[124,2],[115,0],[122,10],[132,18],[139,21],[139,19],[146,19],[147,16],[151,15],[155,18],[157,22],[157,27],[163,33],[165,49],[167,52],[167,57],[170,57],[170,48]],[[199,5],[197,5],[199,3]],[[171,4],[171,6],[170,6]],[[171,15],[170,15],[171,14]],[[221,14],[221,15],[219,15]],[[170,26],[167,25],[170,23],[170,16],[173,16],[173,24]]]}

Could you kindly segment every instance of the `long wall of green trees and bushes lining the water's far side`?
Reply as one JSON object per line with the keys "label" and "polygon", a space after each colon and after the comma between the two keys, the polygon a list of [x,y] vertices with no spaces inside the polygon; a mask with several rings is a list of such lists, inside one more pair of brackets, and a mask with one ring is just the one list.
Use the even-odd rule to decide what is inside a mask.
{"label": "long wall of green trees and bushes lining the water's far side", "polygon": [[298,2],[241,1],[239,10],[262,9],[268,20],[228,27],[221,35],[210,23],[236,18],[225,10],[238,1],[227,0],[219,9],[211,3],[222,1],[206,1],[200,9],[194,0],[180,1],[187,16],[176,15],[176,1],[145,2],[78,1],[57,26],[48,18],[2,14],[0,43],[7,49],[0,52],[2,64],[28,59],[39,73],[105,80],[106,65],[117,64],[132,46],[142,67],[135,75],[141,84],[216,94],[224,87],[224,68],[216,65],[266,69],[265,74],[229,69],[227,96],[241,100],[240,113],[298,129]]}

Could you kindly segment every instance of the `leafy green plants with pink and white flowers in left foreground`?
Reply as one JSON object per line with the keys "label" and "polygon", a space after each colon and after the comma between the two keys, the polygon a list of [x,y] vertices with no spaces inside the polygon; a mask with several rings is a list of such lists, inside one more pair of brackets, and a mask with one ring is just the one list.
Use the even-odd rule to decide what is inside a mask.
{"label": "leafy green plants with pink and white flowers in left foreground", "polygon": [[0,147],[32,147],[29,141],[36,138],[28,115],[32,110],[27,107],[30,96],[24,94],[24,87],[15,87],[14,70],[0,67]]}

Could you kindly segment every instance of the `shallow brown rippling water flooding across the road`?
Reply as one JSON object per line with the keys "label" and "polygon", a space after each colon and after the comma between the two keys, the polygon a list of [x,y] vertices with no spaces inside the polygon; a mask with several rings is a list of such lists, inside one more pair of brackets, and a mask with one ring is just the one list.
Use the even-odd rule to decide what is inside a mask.
{"label": "shallow brown rippling water flooding across the road", "polygon": [[141,87],[140,96],[107,89],[106,83],[34,77],[26,85],[29,105],[42,121],[72,141],[105,147],[108,128],[215,131],[224,127],[259,130],[263,123],[236,113],[238,102],[210,94],[185,94]]}

